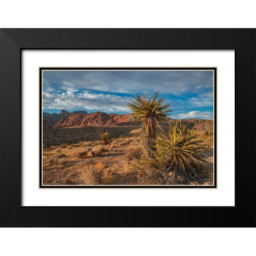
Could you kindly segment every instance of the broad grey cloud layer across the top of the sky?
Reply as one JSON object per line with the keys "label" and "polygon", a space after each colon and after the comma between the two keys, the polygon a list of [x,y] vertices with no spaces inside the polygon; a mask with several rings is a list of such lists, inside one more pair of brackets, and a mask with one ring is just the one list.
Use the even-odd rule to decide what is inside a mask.
{"label": "broad grey cloud layer across the top of the sky", "polygon": [[79,90],[181,95],[213,87],[212,71],[44,71],[44,81]]}

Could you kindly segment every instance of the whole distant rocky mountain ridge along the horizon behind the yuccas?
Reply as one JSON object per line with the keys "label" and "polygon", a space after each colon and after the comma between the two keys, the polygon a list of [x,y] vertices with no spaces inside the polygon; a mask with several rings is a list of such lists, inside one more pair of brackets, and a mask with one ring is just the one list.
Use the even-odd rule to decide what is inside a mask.
{"label": "whole distant rocky mountain ridge along the horizon behind the yuccas", "polygon": [[[125,126],[134,125],[134,115],[132,114],[106,114],[104,112],[74,111],[69,113],[61,110],[59,114],[43,113],[43,127],[71,127],[71,126]],[[173,123],[177,120],[169,118]],[[200,131],[213,131],[213,120],[210,119],[183,119],[182,123],[189,123],[190,129]],[[138,126],[138,124],[137,124]]]}

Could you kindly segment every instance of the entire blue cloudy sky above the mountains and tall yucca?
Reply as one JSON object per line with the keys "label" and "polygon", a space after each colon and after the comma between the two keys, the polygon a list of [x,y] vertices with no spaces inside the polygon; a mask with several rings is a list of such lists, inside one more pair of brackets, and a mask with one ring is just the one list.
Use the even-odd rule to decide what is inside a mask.
{"label": "entire blue cloudy sky above the mountains and tall yucca", "polygon": [[44,70],[43,112],[131,113],[135,94],[164,97],[171,118],[213,119],[213,71]]}

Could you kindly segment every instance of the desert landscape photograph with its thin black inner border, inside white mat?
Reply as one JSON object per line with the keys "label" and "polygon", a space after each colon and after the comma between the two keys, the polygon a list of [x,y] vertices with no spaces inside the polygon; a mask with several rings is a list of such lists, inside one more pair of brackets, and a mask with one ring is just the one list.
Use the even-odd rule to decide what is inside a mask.
{"label": "desert landscape photograph with its thin black inner border, inside white mat", "polygon": [[216,68],[40,68],[40,187],[216,186]]}

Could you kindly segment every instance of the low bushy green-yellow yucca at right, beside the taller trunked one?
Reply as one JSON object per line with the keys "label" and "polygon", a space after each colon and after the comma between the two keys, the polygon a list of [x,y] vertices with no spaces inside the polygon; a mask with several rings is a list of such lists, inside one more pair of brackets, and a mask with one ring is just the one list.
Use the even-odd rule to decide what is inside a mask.
{"label": "low bushy green-yellow yucca at right, beside the taller trunked one", "polygon": [[188,179],[196,161],[206,162],[204,153],[207,149],[202,145],[203,141],[196,139],[194,129],[189,130],[188,127],[189,124],[181,121],[169,123],[167,131],[157,134],[157,139],[153,140],[156,148],[154,157],[149,160],[152,166],[174,171]]}

